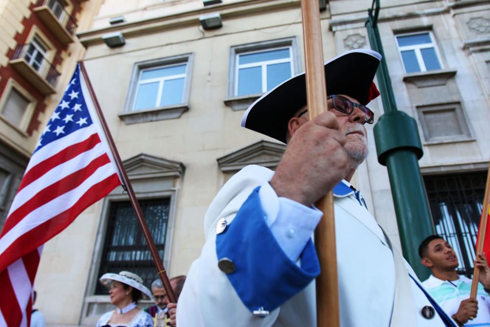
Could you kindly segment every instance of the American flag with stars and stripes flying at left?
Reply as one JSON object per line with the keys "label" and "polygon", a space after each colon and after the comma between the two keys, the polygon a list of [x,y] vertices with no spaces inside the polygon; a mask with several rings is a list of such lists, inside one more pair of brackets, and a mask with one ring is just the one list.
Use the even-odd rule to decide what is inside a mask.
{"label": "American flag with stars and stripes flying at left", "polygon": [[78,64],[0,233],[0,326],[28,327],[43,244],[121,184]]}

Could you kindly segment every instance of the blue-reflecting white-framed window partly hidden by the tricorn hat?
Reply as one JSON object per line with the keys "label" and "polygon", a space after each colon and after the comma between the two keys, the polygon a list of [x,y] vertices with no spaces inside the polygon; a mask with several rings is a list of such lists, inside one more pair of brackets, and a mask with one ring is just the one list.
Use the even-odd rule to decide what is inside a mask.
{"label": "blue-reflecting white-framed window partly hidden by the tricorn hat", "polygon": [[266,93],[293,76],[291,47],[236,55],[235,95]]}

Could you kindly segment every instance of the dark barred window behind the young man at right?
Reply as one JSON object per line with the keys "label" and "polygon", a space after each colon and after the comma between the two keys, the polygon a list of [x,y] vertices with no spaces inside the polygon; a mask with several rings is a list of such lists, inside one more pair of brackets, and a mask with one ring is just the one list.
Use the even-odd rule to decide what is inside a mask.
{"label": "dark barred window behind the young man at right", "polygon": [[472,275],[487,172],[423,178],[436,233],[454,248],[458,273]]}

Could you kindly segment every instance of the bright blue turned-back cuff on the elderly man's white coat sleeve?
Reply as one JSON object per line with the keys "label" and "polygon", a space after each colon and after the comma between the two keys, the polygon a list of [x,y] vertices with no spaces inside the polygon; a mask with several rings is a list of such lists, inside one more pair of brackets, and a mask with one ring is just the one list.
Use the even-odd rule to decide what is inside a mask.
{"label": "bright blue turned-back cuff on the elderly man's white coat sleeve", "polygon": [[227,277],[251,312],[273,311],[320,273],[311,239],[301,253],[300,266],[282,251],[264,219],[259,189],[253,190],[233,221],[216,236],[218,260],[228,258],[234,263],[235,270]]}

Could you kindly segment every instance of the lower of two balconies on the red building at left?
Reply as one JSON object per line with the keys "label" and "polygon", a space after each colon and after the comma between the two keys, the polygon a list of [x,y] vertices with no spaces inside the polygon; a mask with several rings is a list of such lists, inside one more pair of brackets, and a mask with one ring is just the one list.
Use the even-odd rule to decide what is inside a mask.
{"label": "lower of two balconies on the red building at left", "polygon": [[60,73],[33,43],[19,45],[10,63],[42,94],[55,92],[54,86]]}

